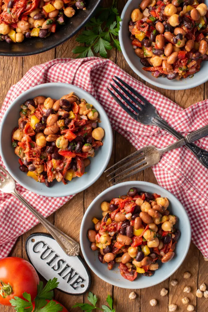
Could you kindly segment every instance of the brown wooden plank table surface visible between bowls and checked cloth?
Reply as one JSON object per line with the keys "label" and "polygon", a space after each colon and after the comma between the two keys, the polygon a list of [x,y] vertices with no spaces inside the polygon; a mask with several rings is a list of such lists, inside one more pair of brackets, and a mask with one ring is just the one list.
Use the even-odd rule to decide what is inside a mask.
{"label": "brown wooden plank table surface visible between bowls and checked cloth", "polygon": [[[119,11],[121,13],[125,0],[121,0],[118,4]],[[0,57],[0,81],[1,81],[1,103],[5,98],[7,91],[10,86],[17,83],[18,80],[25,75],[32,66],[45,63],[54,58],[69,57],[74,58],[75,55],[72,53],[73,47],[78,45],[75,41],[76,36],[58,46],[56,49],[47,51],[45,53],[26,57]],[[127,73],[141,80],[128,66],[121,52],[115,49],[110,51],[109,58],[120,66]],[[145,82],[144,82],[145,83]],[[153,85],[146,85],[159,91],[163,95],[167,96],[171,100],[175,101],[178,105],[186,108],[198,101],[204,100],[208,95],[208,84],[200,85],[191,90],[172,91],[164,90]],[[114,146],[113,153],[109,165],[119,161],[125,156],[135,151],[135,148],[120,134],[114,133]],[[157,183],[151,168],[131,177],[131,181],[140,180]],[[78,193],[72,200],[67,202],[63,207],[51,215],[48,219],[54,223],[61,231],[65,232],[75,240],[79,241],[79,231],[74,228],[80,228],[80,224],[83,218],[84,211],[87,209],[92,200],[103,190],[109,187],[104,175],[94,183],[87,190]],[[76,222],[76,227],[74,224]],[[17,256],[27,259],[25,252],[25,241],[26,238],[34,232],[46,232],[42,225],[37,225],[30,231],[18,238],[10,256]],[[189,271],[191,277],[189,279],[183,278],[183,273]],[[99,297],[98,305],[101,307],[105,304],[105,299],[108,294],[113,297],[113,305],[116,312],[168,312],[168,304],[176,304],[178,306],[177,311],[187,311],[187,305],[183,305],[181,299],[187,296],[190,300],[190,304],[195,306],[197,312],[208,311],[208,299],[197,298],[195,293],[203,282],[208,286],[208,262],[204,261],[201,252],[191,243],[188,255],[183,262],[182,266],[170,277],[159,285],[143,290],[135,290],[137,298],[135,300],[129,300],[129,294],[133,290],[123,289],[111,286],[106,282],[99,279],[92,271],[92,285],[90,291]],[[170,280],[176,279],[178,285],[173,287],[170,285]],[[191,293],[183,293],[185,286],[191,287]],[[168,295],[161,297],[160,290],[162,288],[168,289]],[[149,300],[157,299],[158,304],[154,307],[149,305]],[[58,290],[55,290],[55,299],[60,301],[66,306],[68,310],[76,302],[87,302],[87,294],[81,296],[66,295]],[[77,312],[80,309],[72,309]],[[13,312],[12,307],[0,307],[0,312]]]}

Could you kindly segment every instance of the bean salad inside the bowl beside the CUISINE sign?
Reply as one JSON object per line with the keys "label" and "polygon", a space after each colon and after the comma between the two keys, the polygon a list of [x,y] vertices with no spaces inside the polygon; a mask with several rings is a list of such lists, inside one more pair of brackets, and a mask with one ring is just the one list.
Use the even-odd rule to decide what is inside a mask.
{"label": "bean salad inside the bowl beside the CUISINE sign", "polygon": [[87,236],[92,251],[112,270],[119,263],[121,275],[130,281],[138,273],[151,276],[158,261],[173,259],[180,231],[177,217],[168,211],[168,198],[132,187],[127,195],[102,202],[102,220],[92,219],[94,229]]}

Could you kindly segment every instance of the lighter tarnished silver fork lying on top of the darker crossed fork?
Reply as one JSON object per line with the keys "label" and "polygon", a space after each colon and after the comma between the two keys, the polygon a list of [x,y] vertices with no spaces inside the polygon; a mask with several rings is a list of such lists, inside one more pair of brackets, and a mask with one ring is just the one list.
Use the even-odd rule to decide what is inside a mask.
{"label": "lighter tarnished silver fork lying on top of the darker crossed fork", "polygon": [[[115,169],[111,173],[107,175],[107,177],[110,177],[114,174],[116,174],[118,171],[121,169],[124,169],[125,167],[129,166],[130,164],[134,163],[131,167],[117,173],[115,176],[110,178],[108,181],[110,182],[111,180],[114,180],[116,178],[121,177],[125,173],[128,173],[129,171],[135,169],[134,171],[126,174],[125,176],[121,177],[120,179],[116,180],[112,185],[115,185],[122,180],[129,178],[135,173],[138,173],[146,168],[149,168],[151,166],[156,165],[161,158],[161,155],[164,154],[165,152],[168,152],[172,149],[176,149],[178,147],[181,147],[187,143],[197,141],[198,139],[203,138],[204,136],[208,135],[208,125],[205,127],[198,129],[194,132],[191,132],[188,134],[184,139],[181,139],[167,147],[164,147],[162,149],[156,148],[154,145],[148,145],[143,147],[142,149],[139,149],[138,151],[134,152],[133,154],[130,154],[129,156],[125,157],[124,159],[120,160],[110,168],[108,168],[105,172],[109,172],[112,168],[115,168],[119,165],[119,168]],[[136,156],[136,157],[134,157]],[[133,158],[133,159],[131,159]],[[130,160],[131,159],[131,160]],[[130,160],[129,162],[125,163],[125,161]],[[138,162],[139,161],[139,162]],[[138,168],[139,167],[139,168]],[[137,169],[136,169],[137,168]]]}

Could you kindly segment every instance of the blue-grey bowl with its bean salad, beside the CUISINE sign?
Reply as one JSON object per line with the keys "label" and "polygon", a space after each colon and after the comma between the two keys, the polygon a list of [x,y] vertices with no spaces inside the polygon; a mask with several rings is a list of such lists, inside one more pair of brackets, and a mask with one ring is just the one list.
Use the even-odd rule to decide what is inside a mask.
{"label": "blue-grey bowl with its bean salad, beside the CUISINE sign", "polygon": [[109,284],[139,289],[172,275],[187,255],[191,227],[181,203],[153,183],[119,183],[84,215],[80,245],[88,266]]}

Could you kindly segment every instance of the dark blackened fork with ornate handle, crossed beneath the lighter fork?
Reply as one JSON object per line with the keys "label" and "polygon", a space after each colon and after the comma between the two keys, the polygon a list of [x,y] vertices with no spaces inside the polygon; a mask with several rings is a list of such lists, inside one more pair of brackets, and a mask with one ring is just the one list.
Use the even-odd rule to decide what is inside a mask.
{"label": "dark blackened fork with ornate handle, crossed beneath the lighter fork", "polygon": [[[107,88],[108,92],[112,95],[114,100],[136,121],[138,121],[141,124],[145,125],[154,125],[158,126],[161,129],[167,130],[169,133],[173,134],[177,139],[182,139],[183,136],[174,130],[171,126],[169,126],[159,115],[157,110],[154,108],[154,106],[144,98],[141,94],[139,94],[135,89],[133,89],[130,85],[125,83],[121,78],[116,77],[117,80],[121,82],[122,85],[124,85],[129,91],[131,91],[139,100],[142,101],[140,103],[137,99],[132,96],[129,91],[127,91],[118,81],[113,79],[113,81],[116,83],[116,85],[124,92],[125,95],[129,97],[130,100],[132,100],[135,104],[133,105],[130,100],[125,97],[120,90],[116,89],[114,85],[110,84],[113,90],[121,97],[122,100],[125,101],[127,105],[129,105],[132,110],[135,111],[136,114],[134,114],[126,105],[122,103],[122,101],[110,90]],[[191,150],[191,152],[196,156],[196,158],[204,165],[206,168],[208,168],[208,152],[204,149],[201,149],[200,147],[196,146],[193,143],[186,143],[186,147]]]}

